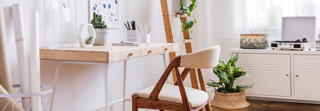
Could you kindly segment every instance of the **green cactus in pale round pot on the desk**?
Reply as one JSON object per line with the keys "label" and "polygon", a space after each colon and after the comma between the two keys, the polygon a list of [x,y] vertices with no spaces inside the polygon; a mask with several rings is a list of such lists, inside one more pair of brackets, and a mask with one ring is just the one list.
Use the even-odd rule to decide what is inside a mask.
{"label": "green cactus in pale round pot on the desk", "polygon": [[93,12],[93,18],[90,22],[93,25],[94,31],[96,32],[96,38],[93,45],[106,45],[108,40],[109,29],[102,20],[102,15]]}

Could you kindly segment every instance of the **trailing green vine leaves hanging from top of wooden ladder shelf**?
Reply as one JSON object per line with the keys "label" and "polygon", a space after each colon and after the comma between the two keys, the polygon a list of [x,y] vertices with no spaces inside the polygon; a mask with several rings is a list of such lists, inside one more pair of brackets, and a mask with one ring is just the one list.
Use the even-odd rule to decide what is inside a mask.
{"label": "trailing green vine leaves hanging from top of wooden ladder shelf", "polygon": [[[191,14],[192,10],[195,9],[197,7],[197,2],[196,0],[190,0],[192,2],[192,4],[190,4],[189,6],[186,6],[185,4],[182,3],[182,0],[180,0],[180,10],[182,10],[183,12],[180,14],[180,21],[184,24],[184,28],[181,31],[188,31],[191,33],[191,39],[193,37],[192,34],[192,29],[191,27],[193,26],[193,24],[197,23],[197,20],[195,18],[195,16],[193,14]],[[184,16],[186,15],[186,16]],[[190,17],[192,15],[192,17],[194,18],[194,21],[190,21],[190,20],[186,20],[186,21],[182,21],[182,17]],[[191,29],[191,30],[189,30]]]}

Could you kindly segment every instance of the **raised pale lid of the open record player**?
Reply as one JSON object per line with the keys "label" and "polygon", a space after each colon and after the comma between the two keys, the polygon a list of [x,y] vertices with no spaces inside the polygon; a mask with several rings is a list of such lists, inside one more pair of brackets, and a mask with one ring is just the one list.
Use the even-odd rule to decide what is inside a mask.
{"label": "raised pale lid of the open record player", "polygon": [[307,38],[316,41],[316,17],[282,17],[281,40],[297,40]]}

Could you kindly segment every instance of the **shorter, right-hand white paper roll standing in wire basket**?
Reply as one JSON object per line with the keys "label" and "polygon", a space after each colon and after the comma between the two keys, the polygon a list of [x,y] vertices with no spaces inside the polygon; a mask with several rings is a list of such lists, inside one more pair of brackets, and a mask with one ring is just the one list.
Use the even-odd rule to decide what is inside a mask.
{"label": "shorter, right-hand white paper roll standing in wire basket", "polygon": [[[39,57],[39,14],[32,13],[30,25],[30,83],[31,93],[41,92],[40,83],[40,57]],[[31,96],[31,111],[41,109],[41,99]]]}

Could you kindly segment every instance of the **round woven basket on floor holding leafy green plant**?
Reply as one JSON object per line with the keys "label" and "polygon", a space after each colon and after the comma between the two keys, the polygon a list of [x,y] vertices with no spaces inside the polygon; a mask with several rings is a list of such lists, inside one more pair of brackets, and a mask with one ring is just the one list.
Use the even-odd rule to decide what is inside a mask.
{"label": "round woven basket on floor holding leafy green plant", "polygon": [[215,91],[210,102],[212,111],[247,111],[250,105],[245,99],[244,90],[239,93],[220,93],[222,87]]}

